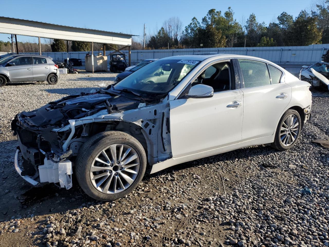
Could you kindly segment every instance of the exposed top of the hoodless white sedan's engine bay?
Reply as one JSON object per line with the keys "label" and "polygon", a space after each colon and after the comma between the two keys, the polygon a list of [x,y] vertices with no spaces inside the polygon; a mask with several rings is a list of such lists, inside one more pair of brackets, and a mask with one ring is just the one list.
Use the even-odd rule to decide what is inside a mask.
{"label": "exposed top of the hoodless white sedan's engine bay", "polygon": [[24,122],[30,127],[61,127],[66,125],[70,119],[91,116],[104,109],[107,109],[109,113],[135,109],[140,103],[140,99],[124,95],[101,92],[81,93],[49,102],[34,111],[21,112],[18,114],[19,118],[15,119],[24,119]]}

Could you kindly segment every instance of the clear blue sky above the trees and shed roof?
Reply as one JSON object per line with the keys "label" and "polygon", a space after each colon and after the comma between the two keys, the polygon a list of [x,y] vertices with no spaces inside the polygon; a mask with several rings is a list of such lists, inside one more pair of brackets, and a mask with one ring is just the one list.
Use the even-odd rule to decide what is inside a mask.
{"label": "clear blue sky above the trees and shed roof", "polygon": [[[251,13],[256,14],[259,22],[268,24],[273,19],[287,12],[297,16],[302,9],[309,9],[312,0],[124,0],[124,1],[7,1],[0,0],[1,16],[42,21],[73,27],[100,29],[105,31],[154,34],[160,29],[165,19],[178,16],[183,27],[188,25],[193,16],[200,22],[208,10],[214,8],[224,13],[231,7],[237,21],[244,21]],[[90,6],[92,4],[92,6]],[[0,40],[7,41],[6,34],[0,34]],[[17,36],[18,41],[34,41],[37,38]],[[136,38],[138,40],[138,38]]]}

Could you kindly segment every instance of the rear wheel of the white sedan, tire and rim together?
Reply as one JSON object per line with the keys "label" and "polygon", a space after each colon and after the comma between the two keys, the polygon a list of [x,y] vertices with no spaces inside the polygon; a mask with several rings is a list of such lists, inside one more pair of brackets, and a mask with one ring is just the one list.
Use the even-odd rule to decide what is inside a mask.
{"label": "rear wheel of the white sedan, tire and rim together", "polygon": [[301,130],[301,118],[296,110],[289,109],[283,114],[275,132],[272,148],[280,151],[291,149],[297,142]]}

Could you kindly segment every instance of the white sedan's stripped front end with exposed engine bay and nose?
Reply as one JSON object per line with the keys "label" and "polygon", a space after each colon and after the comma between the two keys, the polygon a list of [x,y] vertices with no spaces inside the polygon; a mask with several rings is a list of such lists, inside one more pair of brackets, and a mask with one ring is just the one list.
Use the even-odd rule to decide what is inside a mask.
{"label": "white sedan's stripped front end with exposed engine bay and nose", "polygon": [[[112,114],[140,105],[145,103],[94,92],[67,96],[34,111],[17,114],[12,121],[19,144],[15,154],[16,171],[35,186],[53,182],[71,188],[72,167],[80,147],[97,131],[109,130],[106,129],[109,124],[103,124],[103,129],[92,124],[98,114]],[[86,119],[90,124],[84,124]]]}

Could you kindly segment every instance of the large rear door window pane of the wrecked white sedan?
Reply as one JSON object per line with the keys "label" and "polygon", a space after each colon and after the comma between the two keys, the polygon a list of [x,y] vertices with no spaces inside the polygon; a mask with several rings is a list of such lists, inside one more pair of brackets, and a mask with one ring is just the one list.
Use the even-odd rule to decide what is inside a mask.
{"label": "large rear door window pane of the wrecked white sedan", "polygon": [[259,87],[271,84],[265,63],[254,60],[238,60],[242,70],[245,88]]}

